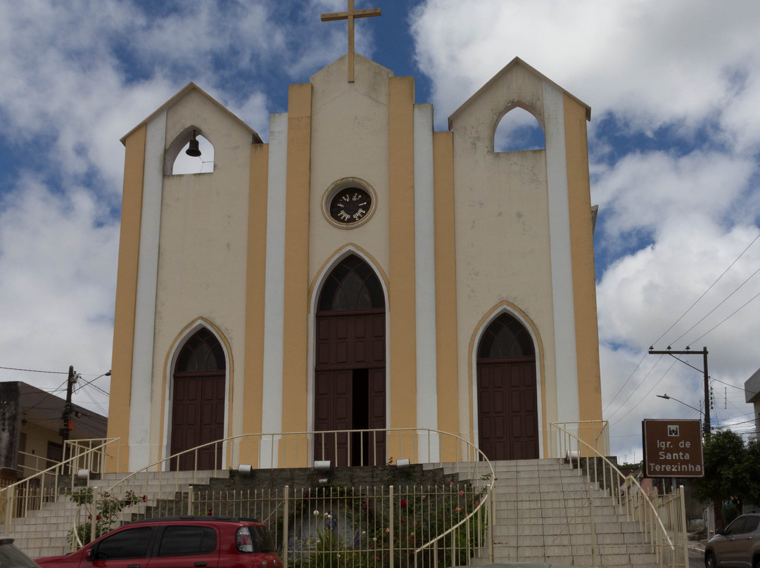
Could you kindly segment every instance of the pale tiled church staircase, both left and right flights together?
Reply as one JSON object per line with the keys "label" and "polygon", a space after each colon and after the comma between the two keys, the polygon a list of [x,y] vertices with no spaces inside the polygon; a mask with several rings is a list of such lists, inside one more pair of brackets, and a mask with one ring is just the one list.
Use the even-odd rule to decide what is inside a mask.
{"label": "pale tiled church staircase, both left and right flights together", "polygon": [[[625,519],[612,497],[587,483],[585,475],[579,475],[577,469],[559,459],[494,462],[493,465],[496,471],[495,562],[608,568],[657,566],[651,546],[644,544],[638,522]],[[425,466],[425,469],[435,468],[442,468],[444,475],[454,478],[454,472],[467,471],[466,464]],[[168,475],[176,474],[145,472],[130,480],[128,488],[138,496],[146,495],[147,502],[126,509],[125,521],[131,520],[134,513],[145,513],[157,500],[174,499],[177,493],[185,493],[194,481],[192,472],[180,472],[176,483],[167,483]],[[466,477],[461,473],[459,476]],[[198,472],[195,484],[229,477],[227,470]],[[103,479],[90,481],[90,485],[103,491],[118,479],[119,475],[106,474]],[[70,550],[66,535],[74,525],[76,513],[74,503],[64,497],[58,503],[46,503],[42,510],[30,512],[26,519],[14,519],[5,534],[16,538],[17,544],[32,557],[64,554]],[[487,551],[483,551],[472,563],[482,565],[488,560]]]}

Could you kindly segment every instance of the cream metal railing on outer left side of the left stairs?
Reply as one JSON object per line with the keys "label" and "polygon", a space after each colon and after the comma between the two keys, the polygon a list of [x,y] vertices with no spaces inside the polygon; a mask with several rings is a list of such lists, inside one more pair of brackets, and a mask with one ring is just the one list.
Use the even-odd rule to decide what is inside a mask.
{"label": "cream metal railing on outer left side of the left stairs", "polygon": [[21,481],[0,488],[0,519],[5,530],[11,528],[14,518],[25,517],[30,510],[39,510],[43,503],[54,503],[71,493],[81,472],[87,483],[93,472],[105,469],[106,452],[118,452],[119,438],[93,440],[67,440],[62,462],[36,472]]}

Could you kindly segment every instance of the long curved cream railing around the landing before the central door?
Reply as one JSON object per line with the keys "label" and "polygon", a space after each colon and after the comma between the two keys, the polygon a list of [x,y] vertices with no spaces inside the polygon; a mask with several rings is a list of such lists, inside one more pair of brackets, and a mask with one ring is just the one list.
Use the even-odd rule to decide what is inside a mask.
{"label": "long curved cream railing around the landing before the central door", "polygon": [[[112,484],[106,489],[105,493],[109,498],[115,498],[119,494],[119,488],[129,487],[130,484],[144,472],[174,472],[161,475],[155,479],[152,488],[153,491],[160,495],[167,491],[181,491],[182,486],[188,481],[193,483],[198,481],[198,465],[207,462],[211,456],[214,462],[220,460],[221,456],[226,453],[227,462],[230,469],[250,471],[251,469],[277,469],[279,467],[312,467],[327,466],[334,467],[340,465],[406,465],[406,460],[413,463],[440,463],[444,461],[451,463],[454,472],[461,477],[470,481],[470,488],[465,491],[459,488],[454,482],[448,488],[442,488],[442,495],[447,491],[453,491],[456,487],[455,496],[472,497],[477,493],[477,499],[470,500],[470,506],[453,506],[451,516],[445,526],[439,527],[441,530],[432,534],[426,532],[424,538],[419,534],[413,533],[413,541],[408,540],[407,549],[410,551],[410,558],[407,559],[416,564],[417,558],[421,554],[431,554],[437,563],[439,555],[441,558],[451,558],[454,550],[466,550],[467,554],[472,552],[474,544],[477,546],[487,547],[491,561],[493,560],[492,544],[492,516],[494,507],[493,485],[495,476],[491,462],[479,448],[467,440],[454,434],[448,434],[443,431],[432,430],[428,428],[385,428],[382,430],[351,430],[351,431],[303,431],[303,432],[286,432],[279,434],[242,434],[239,436],[228,437],[223,440],[217,440],[203,446],[185,450],[172,456],[160,459],[137,472],[126,475],[121,480]],[[395,457],[394,457],[395,456]],[[402,458],[402,456],[405,456]],[[406,457],[408,456],[408,457]],[[244,462],[243,459],[246,461]],[[258,462],[255,467],[250,462]],[[262,465],[262,462],[264,465]],[[318,462],[321,462],[319,464]],[[329,462],[329,465],[327,464]],[[190,479],[181,471],[182,466],[192,466]],[[242,467],[241,467],[242,466]],[[375,488],[373,491],[377,491]],[[394,522],[394,503],[396,511],[403,508],[402,501],[410,503],[404,497],[394,497],[394,488],[389,488],[390,494],[387,496],[388,511],[390,522]],[[420,501],[426,499],[423,491],[425,489],[415,488],[409,490],[404,495],[410,495],[408,491],[420,491]],[[435,489],[434,491],[439,491]],[[429,494],[429,493],[428,493]],[[430,494],[432,495],[432,494]],[[438,494],[435,493],[437,496]],[[147,496],[146,496],[147,497]],[[174,503],[171,505],[174,513],[177,511],[198,512],[208,514],[209,509],[198,509],[198,503],[201,498],[195,491],[188,491],[185,504]],[[283,497],[283,503],[287,503],[290,497]],[[170,501],[170,500],[169,500]],[[432,497],[428,503],[433,503]],[[451,501],[451,500],[449,500]],[[166,500],[163,500],[166,503]],[[221,503],[221,501],[220,501]],[[167,505],[168,506],[168,505]],[[439,503],[436,501],[436,506]],[[214,506],[211,506],[213,513]],[[287,510],[287,506],[286,506]],[[169,513],[168,510],[161,510],[158,507],[157,514],[164,515]],[[287,516],[287,515],[286,515]],[[396,523],[396,526],[404,522]],[[476,529],[480,527],[480,529]],[[389,527],[385,527],[389,529]],[[363,529],[366,532],[366,529]],[[396,529],[393,529],[396,530]],[[283,533],[283,538],[289,538],[287,531]],[[398,535],[396,535],[398,537]],[[339,539],[340,540],[340,539]],[[397,544],[397,538],[389,542],[390,557],[394,557],[394,544]],[[454,542],[466,542],[467,547],[454,546]],[[413,546],[412,546],[413,544]],[[283,554],[288,551],[289,544],[283,544]],[[369,546],[369,543],[368,543]],[[452,547],[453,546],[453,547]],[[366,551],[369,550],[369,547]],[[395,549],[400,550],[399,548]],[[365,551],[365,552],[366,552]],[[448,551],[448,552],[446,552]],[[354,551],[356,552],[356,551]],[[340,553],[336,553],[340,554]],[[457,553],[458,554],[458,553]],[[464,553],[462,553],[464,554]],[[412,558],[413,557],[413,558]],[[464,558],[464,557],[463,557]],[[286,561],[287,563],[287,561]],[[405,564],[406,565],[406,564]],[[451,564],[449,564],[451,565]],[[391,563],[391,568],[393,564]]]}

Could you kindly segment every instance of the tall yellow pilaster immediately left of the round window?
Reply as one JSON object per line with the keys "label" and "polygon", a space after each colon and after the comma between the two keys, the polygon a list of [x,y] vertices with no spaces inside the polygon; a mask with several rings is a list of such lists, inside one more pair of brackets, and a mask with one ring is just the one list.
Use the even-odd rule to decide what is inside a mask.
{"label": "tall yellow pilaster immediately left of the round window", "polygon": [[[312,85],[290,85],[287,113],[285,197],[285,306],[283,431],[305,431],[309,377],[309,185],[312,150]],[[280,454],[282,455],[282,454]],[[305,456],[304,456],[305,458]],[[299,464],[306,466],[305,459]]]}

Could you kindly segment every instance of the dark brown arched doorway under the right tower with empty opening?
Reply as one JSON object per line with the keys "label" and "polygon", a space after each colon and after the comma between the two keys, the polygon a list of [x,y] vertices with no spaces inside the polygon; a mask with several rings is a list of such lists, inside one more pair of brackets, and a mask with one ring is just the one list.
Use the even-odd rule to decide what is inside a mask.
{"label": "dark brown arched doorway under the right tower with empty opening", "polygon": [[478,438],[488,459],[539,456],[536,355],[522,324],[502,314],[477,351]]}

